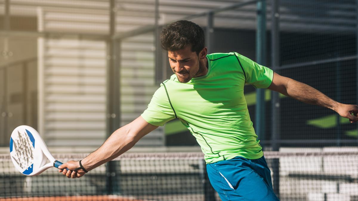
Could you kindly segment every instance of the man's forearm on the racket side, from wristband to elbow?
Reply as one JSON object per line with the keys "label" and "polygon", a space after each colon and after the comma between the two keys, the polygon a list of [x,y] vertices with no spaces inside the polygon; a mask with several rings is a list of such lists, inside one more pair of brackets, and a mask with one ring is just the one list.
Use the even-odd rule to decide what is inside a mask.
{"label": "man's forearm on the racket side, from wristband to elbow", "polygon": [[100,148],[82,160],[82,165],[87,171],[113,160],[134,146],[137,140],[126,127],[127,125],[117,129]]}

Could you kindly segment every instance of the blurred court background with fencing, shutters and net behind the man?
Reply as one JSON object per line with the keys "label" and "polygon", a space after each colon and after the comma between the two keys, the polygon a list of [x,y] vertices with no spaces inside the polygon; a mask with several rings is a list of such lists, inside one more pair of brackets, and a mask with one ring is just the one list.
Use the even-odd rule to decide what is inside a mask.
{"label": "blurred court background with fencing, shutters and net behind the man", "polygon": [[[63,162],[95,151],[137,118],[172,74],[159,34],[181,19],[202,26],[209,54],[238,52],[338,102],[357,104],[357,8],[356,0],[0,0],[0,200],[218,200],[200,148],[178,120],[130,150],[152,157],[151,165],[129,154],[72,183],[55,171],[16,173],[10,134],[22,124],[34,127],[51,152],[64,154]],[[245,98],[281,200],[358,200],[357,123],[252,85]],[[142,168],[131,172],[134,166]],[[172,183],[165,183],[169,177]],[[53,178],[79,190],[48,190]],[[21,190],[6,188],[10,181]]]}

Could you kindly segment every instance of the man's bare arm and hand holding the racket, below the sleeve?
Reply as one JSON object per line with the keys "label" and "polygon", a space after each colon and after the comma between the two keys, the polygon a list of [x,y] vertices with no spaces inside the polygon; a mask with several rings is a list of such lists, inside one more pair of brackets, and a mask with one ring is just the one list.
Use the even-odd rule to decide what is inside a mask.
{"label": "man's bare arm and hand holding the racket, below the sleeve", "polygon": [[[131,123],[113,132],[102,146],[84,158],[81,164],[87,171],[93,170],[128,151],[140,138],[156,128],[158,128],[158,126],[153,126],[139,116]],[[68,161],[67,163],[63,163],[59,168],[63,169],[66,167],[70,170],[66,171],[66,169],[64,169],[63,172],[62,170],[59,170],[59,172],[62,172],[63,175],[66,175],[68,178],[76,178],[84,175],[83,170],[78,170],[77,172],[71,171],[80,167],[79,161]]]}

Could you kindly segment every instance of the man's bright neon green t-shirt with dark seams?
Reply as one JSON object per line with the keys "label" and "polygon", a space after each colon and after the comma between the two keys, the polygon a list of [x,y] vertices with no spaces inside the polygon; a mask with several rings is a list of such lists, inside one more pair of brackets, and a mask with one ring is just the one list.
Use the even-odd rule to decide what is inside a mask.
{"label": "man's bright neon green t-shirt with dark seams", "polygon": [[243,90],[246,83],[269,87],[273,71],[235,52],[209,54],[207,59],[206,75],[188,83],[180,83],[175,74],[165,80],[141,116],[155,126],[179,118],[197,139],[207,163],[262,157]]}

